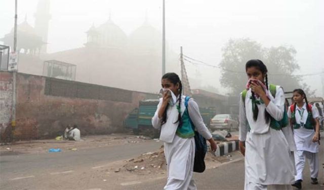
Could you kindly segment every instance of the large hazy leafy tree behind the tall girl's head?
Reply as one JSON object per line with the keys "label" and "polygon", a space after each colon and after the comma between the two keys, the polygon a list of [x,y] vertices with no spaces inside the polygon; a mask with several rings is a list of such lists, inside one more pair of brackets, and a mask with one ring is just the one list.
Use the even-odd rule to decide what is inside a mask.
{"label": "large hazy leafy tree behind the tall girl's head", "polygon": [[302,83],[301,77],[293,76],[299,70],[294,47],[265,48],[256,41],[244,38],[230,39],[222,51],[220,67],[223,70],[220,81],[222,86],[230,89],[230,94],[237,95],[245,88],[245,64],[250,59],[260,59],[264,62],[268,69],[269,83],[280,85],[285,91],[302,88],[308,95],[314,94],[308,85]]}

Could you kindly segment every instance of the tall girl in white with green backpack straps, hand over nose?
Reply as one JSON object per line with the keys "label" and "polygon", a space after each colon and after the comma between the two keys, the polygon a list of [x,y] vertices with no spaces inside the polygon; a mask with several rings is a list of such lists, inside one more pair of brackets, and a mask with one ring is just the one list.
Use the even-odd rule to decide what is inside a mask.
{"label": "tall girl in white with green backpack straps, hand over nose", "polygon": [[245,155],[245,189],[292,189],[295,166],[293,131],[280,86],[268,85],[259,59],[246,64],[247,89],[239,103],[239,148]]}

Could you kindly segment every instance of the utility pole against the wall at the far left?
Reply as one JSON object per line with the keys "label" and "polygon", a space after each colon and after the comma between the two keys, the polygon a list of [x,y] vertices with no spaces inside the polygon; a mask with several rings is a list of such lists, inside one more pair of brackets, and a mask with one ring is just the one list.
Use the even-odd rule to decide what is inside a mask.
{"label": "utility pole against the wall at the far left", "polygon": [[[15,33],[14,33],[14,53],[17,54],[17,2],[18,0],[15,0]],[[17,60],[18,61],[18,60]],[[18,62],[17,62],[18,64]],[[14,131],[16,126],[16,72],[17,70],[13,71],[13,88],[12,88],[12,120],[11,120],[11,141],[13,141],[14,137]]]}

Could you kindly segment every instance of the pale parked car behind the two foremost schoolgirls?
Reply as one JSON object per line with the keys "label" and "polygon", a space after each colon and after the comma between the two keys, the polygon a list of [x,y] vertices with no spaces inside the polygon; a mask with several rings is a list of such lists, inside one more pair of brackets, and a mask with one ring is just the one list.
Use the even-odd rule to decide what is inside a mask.
{"label": "pale parked car behind the two foremost schoolgirls", "polygon": [[215,130],[238,130],[238,115],[217,114],[211,119],[210,128]]}

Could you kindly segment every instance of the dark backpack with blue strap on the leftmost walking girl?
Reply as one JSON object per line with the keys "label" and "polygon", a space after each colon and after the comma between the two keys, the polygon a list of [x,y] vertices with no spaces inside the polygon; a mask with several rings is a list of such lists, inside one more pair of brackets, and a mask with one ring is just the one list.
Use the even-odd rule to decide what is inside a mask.
{"label": "dark backpack with blue strap on the leftmost walking girl", "polygon": [[[185,111],[187,112],[188,115],[189,115],[188,113],[189,99],[190,97],[186,96],[184,101],[186,107]],[[191,123],[192,129],[194,130],[195,127],[193,125],[193,122],[190,119],[190,116],[189,116],[189,121]],[[206,143],[206,139],[195,130],[194,130],[194,143],[195,143],[195,154],[194,154],[193,171],[202,173],[206,169],[205,156],[207,153],[207,143]]]}

